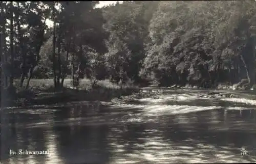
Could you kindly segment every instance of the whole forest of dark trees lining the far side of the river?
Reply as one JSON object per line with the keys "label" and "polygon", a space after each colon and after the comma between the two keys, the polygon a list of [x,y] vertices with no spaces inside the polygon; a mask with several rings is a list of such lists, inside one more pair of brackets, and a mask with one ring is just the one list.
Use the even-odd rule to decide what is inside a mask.
{"label": "whole forest of dark trees lining the far side of the river", "polygon": [[31,79],[55,89],[67,78],[93,88],[104,79],[120,88],[255,84],[254,0],[96,4],[0,2],[2,94]]}

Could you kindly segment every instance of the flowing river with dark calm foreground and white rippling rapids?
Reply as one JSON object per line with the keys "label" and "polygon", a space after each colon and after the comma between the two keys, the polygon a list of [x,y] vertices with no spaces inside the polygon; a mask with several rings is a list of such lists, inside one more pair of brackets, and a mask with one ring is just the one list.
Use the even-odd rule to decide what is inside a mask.
{"label": "flowing river with dark calm foreground and white rippling rapids", "polygon": [[[232,98],[201,96],[209,90],[142,92],[157,97],[5,110],[2,163],[256,162],[252,91],[219,91]],[[19,155],[19,149],[49,153]]]}

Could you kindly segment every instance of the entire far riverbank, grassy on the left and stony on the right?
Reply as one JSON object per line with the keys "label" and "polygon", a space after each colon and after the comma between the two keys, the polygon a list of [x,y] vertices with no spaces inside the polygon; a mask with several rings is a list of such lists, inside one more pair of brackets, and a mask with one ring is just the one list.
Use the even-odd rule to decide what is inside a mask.
{"label": "entire far riverbank, grassy on the left and stony on the right", "polygon": [[[159,96],[161,95],[161,93],[159,93],[157,90],[149,90],[144,92],[141,91],[139,87],[132,85],[125,85],[122,87],[122,89],[120,89],[117,84],[111,83],[109,80],[98,81],[97,87],[93,89],[89,79],[82,79],[80,85],[75,89],[71,87],[71,81],[71,79],[66,79],[64,88],[61,91],[55,90],[52,79],[32,79],[30,88],[28,90],[18,88],[18,81],[16,81],[15,87],[17,87],[17,94],[15,100],[8,102],[6,101],[5,104],[2,104],[2,106],[28,107],[33,105],[57,105],[78,101],[100,101],[104,104],[120,104],[125,102],[133,102],[136,101],[136,99],[141,98],[143,99],[150,97],[153,99],[159,99]],[[219,93],[218,90],[245,90],[245,88],[234,86],[235,85],[226,86],[220,84],[216,88],[209,89],[209,92],[198,95],[198,98],[235,98],[235,95],[222,94]],[[174,90],[198,90],[198,87],[193,87],[190,85],[183,87],[174,85],[166,88]],[[216,92],[212,92],[210,90],[215,90]],[[255,89],[250,92],[254,91]]]}

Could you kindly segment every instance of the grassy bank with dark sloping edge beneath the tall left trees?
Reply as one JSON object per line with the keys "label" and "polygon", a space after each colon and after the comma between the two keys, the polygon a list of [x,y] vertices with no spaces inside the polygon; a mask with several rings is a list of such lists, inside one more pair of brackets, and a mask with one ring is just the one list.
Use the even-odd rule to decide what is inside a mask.
{"label": "grassy bank with dark sloping edge beneath the tall left trees", "polygon": [[[54,89],[53,79],[31,79],[30,88],[25,90],[19,88],[19,81],[16,80],[14,85],[17,88],[15,102],[8,103],[7,106],[29,106],[41,104],[56,104],[60,102],[71,101],[106,101],[113,98],[131,95],[138,92],[138,87],[124,85],[122,89],[109,80],[100,80],[96,88],[91,87],[89,79],[81,79],[80,85],[74,89],[71,87],[72,79],[66,79],[64,88],[61,91]],[[27,81],[24,81],[26,84]]]}

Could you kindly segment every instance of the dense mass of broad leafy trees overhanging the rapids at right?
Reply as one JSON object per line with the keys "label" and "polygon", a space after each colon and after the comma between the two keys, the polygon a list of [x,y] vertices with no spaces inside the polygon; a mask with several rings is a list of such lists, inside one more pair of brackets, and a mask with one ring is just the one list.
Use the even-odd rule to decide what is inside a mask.
{"label": "dense mass of broad leafy trees overhanging the rapids at right", "polygon": [[255,83],[255,1],[160,2],[141,75],[161,85]]}

